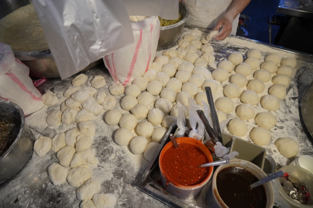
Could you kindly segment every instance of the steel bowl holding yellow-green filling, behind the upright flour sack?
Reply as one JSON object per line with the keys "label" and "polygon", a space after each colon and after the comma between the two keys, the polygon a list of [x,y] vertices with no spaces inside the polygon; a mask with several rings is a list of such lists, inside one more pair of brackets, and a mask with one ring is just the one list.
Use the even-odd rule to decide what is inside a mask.
{"label": "steel bowl holding yellow-green filling, behind the upright flour sack", "polygon": [[169,26],[161,27],[160,38],[156,48],[157,51],[167,50],[178,44],[190,12],[185,4],[179,3],[179,13],[182,17],[181,21]]}

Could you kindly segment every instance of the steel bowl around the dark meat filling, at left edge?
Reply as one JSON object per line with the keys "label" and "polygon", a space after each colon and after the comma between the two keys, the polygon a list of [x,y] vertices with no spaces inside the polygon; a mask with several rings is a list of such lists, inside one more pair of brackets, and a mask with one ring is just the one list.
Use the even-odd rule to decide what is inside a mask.
{"label": "steel bowl around the dark meat filling, at left edge", "polygon": [[33,153],[35,137],[25,123],[24,112],[17,104],[0,99],[0,122],[9,122],[16,135],[11,146],[0,155],[0,184],[16,175]]}

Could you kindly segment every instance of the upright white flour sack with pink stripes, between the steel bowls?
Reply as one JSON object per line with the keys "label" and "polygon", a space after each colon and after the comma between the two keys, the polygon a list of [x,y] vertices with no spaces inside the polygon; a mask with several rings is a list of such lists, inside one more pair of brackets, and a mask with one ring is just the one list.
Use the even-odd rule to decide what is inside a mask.
{"label": "upright white flour sack with pink stripes, between the steel bowls", "polygon": [[160,21],[156,16],[132,22],[131,26],[135,42],[103,58],[114,82],[121,82],[124,86],[148,70],[160,36]]}

